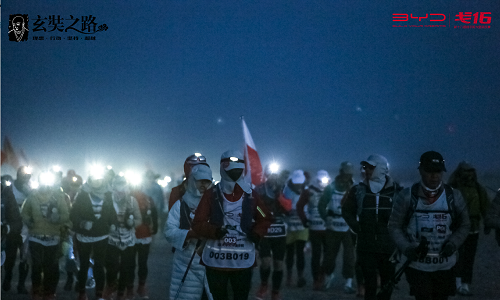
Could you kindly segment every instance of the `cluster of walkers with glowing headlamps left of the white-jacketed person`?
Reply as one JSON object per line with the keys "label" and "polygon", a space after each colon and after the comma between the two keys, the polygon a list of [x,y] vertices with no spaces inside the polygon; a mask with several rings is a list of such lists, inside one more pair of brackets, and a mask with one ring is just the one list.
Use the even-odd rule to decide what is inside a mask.
{"label": "cluster of walkers with glowing headlamps left of the white-jacketed person", "polygon": [[158,230],[149,180],[154,174],[146,173],[143,186],[132,186],[112,170],[91,174],[85,182],[73,170],[66,177],[42,172],[34,189],[31,172],[22,166],[15,180],[2,176],[2,291],[11,289],[19,252],[17,292],[32,299],[56,299],[61,257],[67,272],[64,289],[74,288],[78,300],[88,299],[89,286],[96,299],[133,299],[136,268],[137,295],[148,299],[149,245]]}

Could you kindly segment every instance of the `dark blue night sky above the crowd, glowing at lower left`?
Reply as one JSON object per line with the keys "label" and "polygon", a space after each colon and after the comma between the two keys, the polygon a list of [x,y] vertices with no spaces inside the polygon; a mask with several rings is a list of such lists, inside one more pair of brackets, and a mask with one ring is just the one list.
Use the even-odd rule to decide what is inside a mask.
{"label": "dark blue night sky above the crowd, glowing at lower left", "polygon": [[[461,11],[491,12],[491,28],[453,28]],[[26,42],[8,40],[15,13]],[[393,13],[447,27],[393,28]],[[95,41],[32,30],[37,15],[89,14],[109,28]],[[498,170],[499,18],[496,0],[3,1],[2,140],[41,168],[180,175],[201,152],[217,174],[244,115],[263,164],[336,172],[379,153],[416,175],[436,150],[449,171]]]}

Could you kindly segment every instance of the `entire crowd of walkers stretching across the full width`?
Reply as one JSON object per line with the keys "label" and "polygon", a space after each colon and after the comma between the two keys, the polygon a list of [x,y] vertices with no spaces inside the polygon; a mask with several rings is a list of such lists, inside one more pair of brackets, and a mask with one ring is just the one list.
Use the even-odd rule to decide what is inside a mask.
{"label": "entire crowd of walkers stretching across the full width", "polygon": [[334,176],[325,170],[283,176],[268,166],[263,183],[252,186],[247,163],[239,151],[224,152],[214,184],[205,157],[187,157],[165,221],[159,213],[164,193],[152,171],[141,186],[113,171],[85,182],[73,170],[66,177],[41,173],[37,189],[28,184],[28,167],[19,168],[15,180],[2,176],[2,290],[11,290],[18,261],[17,292],[56,299],[64,256],[64,289],[74,289],[77,300],[87,299],[89,284],[96,299],[148,299],[148,254],[162,226],[174,252],[174,300],[248,299],[259,264],[255,299],[283,299],[283,281],[304,288],[310,280],[304,272],[309,248],[312,288],[328,290],[341,246],[346,294],[390,299],[401,262],[417,300],[472,295],[481,228],[494,229],[500,245],[500,190],[491,201],[465,161],[443,182],[445,160],[435,151],[421,155],[420,180],[409,187],[391,178],[378,154],[360,162],[358,183],[354,164],[344,161]]}

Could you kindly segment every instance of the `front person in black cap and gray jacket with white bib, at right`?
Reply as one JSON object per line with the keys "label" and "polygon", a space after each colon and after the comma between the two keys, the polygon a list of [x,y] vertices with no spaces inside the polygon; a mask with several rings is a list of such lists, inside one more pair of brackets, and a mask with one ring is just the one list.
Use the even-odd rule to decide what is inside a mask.
{"label": "front person in black cap and gray jacket with white bib, at right", "polygon": [[[415,299],[442,299],[456,293],[457,249],[469,234],[467,204],[458,189],[443,182],[443,156],[427,151],[420,156],[420,181],[399,192],[388,222],[398,249],[411,261],[406,269]],[[419,243],[428,241],[425,251]]]}

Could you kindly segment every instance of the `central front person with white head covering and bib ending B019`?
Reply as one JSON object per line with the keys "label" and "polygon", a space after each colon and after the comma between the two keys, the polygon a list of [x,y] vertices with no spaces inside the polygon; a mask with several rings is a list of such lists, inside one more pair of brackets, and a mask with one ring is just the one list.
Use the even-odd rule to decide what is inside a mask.
{"label": "central front person with white head covering and bib ending B019", "polygon": [[215,300],[227,299],[229,281],[234,299],[248,298],[256,265],[255,244],[271,225],[271,215],[245,180],[244,169],[241,152],[224,152],[221,181],[203,194],[193,219],[194,232],[207,239],[201,261]]}

